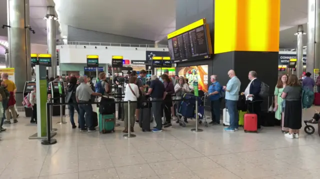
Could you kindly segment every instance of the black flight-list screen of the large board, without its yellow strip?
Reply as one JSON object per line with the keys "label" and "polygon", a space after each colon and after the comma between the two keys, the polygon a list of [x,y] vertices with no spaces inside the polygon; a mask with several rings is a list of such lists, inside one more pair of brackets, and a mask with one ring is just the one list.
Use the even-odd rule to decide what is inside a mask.
{"label": "black flight-list screen of the large board, without its yellow strip", "polygon": [[206,24],[168,39],[171,60],[189,59],[210,54]]}

